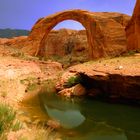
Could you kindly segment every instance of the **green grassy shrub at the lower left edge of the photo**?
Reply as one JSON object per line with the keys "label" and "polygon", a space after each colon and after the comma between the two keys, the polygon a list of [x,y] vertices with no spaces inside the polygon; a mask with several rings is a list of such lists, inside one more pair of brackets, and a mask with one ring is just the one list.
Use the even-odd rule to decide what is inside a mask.
{"label": "green grassy shrub at the lower left edge of the photo", "polygon": [[21,127],[21,123],[16,120],[16,112],[10,106],[0,103],[0,138],[7,132],[17,131]]}

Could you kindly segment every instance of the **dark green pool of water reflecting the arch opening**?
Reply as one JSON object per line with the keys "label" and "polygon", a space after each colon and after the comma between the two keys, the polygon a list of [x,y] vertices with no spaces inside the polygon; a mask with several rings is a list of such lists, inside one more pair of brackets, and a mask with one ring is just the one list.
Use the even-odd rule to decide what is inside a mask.
{"label": "dark green pool of water reflecting the arch opening", "polygon": [[80,140],[140,139],[140,108],[90,99],[72,102],[49,93],[39,97],[47,115]]}

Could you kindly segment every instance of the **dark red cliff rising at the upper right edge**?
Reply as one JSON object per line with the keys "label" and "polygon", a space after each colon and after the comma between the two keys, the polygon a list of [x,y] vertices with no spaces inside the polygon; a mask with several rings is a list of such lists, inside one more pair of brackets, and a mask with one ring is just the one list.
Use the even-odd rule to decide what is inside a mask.
{"label": "dark red cliff rising at the upper right edge", "polygon": [[128,50],[140,51],[140,0],[137,0],[133,16],[126,27]]}

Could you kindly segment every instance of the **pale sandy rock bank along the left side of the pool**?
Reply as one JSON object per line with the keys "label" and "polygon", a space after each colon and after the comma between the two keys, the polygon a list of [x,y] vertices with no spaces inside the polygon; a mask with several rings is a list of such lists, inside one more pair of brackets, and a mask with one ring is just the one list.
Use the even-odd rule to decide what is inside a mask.
{"label": "pale sandy rock bank along the left side of the pool", "polygon": [[[44,83],[49,83],[49,89],[52,86],[51,80],[55,80],[62,72],[62,65],[57,62],[44,62],[37,61],[35,59],[32,60],[23,60],[19,58],[14,58],[11,56],[1,56],[0,51],[0,105],[8,105],[11,106],[12,110],[15,110],[16,121],[18,120],[16,125],[16,131],[14,131],[11,127],[12,123],[10,121],[10,128],[7,125],[10,120],[13,120],[12,110],[8,110],[8,113],[5,110],[6,107],[1,107],[1,118],[5,118],[3,123],[6,127],[2,128],[6,129],[6,132],[1,131],[0,139],[4,140],[20,140],[20,139],[46,139],[46,132],[51,133],[46,127],[43,126],[38,128],[38,122],[35,124],[27,113],[23,112],[21,109],[21,101],[23,98],[33,98],[44,85]],[[8,114],[8,115],[7,115]],[[38,112],[38,114],[40,114]],[[8,117],[7,117],[8,116]],[[10,129],[10,130],[9,130]],[[44,132],[41,134],[41,132]],[[4,135],[4,136],[3,136]],[[53,132],[54,135],[54,132]],[[44,136],[44,138],[42,138]],[[52,136],[53,137],[53,136]],[[49,136],[50,138],[50,136]],[[47,139],[49,139],[47,138]],[[53,138],[51,138],[53,139]]]}

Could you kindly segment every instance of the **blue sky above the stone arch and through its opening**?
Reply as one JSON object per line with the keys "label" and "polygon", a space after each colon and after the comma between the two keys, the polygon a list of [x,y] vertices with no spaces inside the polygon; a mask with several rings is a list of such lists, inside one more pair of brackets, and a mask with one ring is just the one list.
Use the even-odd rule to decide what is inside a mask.
{"label": "blue sky above the stone arch and through its opening", "polygon": [[[0,28],[31,29],[40,17],[68,9],[120,12],[132,15],[136,0],[0,0]],[[80,29],[65,21],[57,28]]]}

